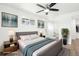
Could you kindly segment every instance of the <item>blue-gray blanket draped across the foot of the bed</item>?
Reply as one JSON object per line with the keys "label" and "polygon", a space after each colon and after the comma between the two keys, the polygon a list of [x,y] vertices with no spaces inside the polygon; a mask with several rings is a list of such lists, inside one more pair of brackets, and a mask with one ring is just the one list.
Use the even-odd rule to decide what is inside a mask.
{"label": "blue-gray blanket draped across the foot of the bed", "polygon": [[23,54],[24,54],[24,56],[31,56],[34,51],[36,51],[37,49],[43,47],[44,45],[46,45],[52,41],[54,41],[54,40],[45,38],[45,40],[30,44],[24,48]]}

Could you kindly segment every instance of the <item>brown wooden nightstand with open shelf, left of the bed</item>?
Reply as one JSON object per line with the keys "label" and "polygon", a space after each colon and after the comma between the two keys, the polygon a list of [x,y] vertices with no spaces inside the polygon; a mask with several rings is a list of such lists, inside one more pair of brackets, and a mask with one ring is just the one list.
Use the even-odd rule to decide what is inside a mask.
{"label": "brown wooden nightstand with open shelf, left of the bed", "polygon": [[10,41],[4,42],[4,50],[3,50],[4,54],[11,53],[17,50],[18,50],[17,40],[14,40],[13,42],[10,42]]}

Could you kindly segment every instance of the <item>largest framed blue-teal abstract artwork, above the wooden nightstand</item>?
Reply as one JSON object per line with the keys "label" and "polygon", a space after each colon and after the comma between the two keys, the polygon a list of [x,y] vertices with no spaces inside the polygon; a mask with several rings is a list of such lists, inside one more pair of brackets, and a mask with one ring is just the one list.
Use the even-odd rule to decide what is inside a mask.
{"label": "largest framed blue-teal abstract artwork, above the wooden nightstand", "polygon": [[10,13],[1,13],[2,16],[2,27],[18,27],[18,16]]}

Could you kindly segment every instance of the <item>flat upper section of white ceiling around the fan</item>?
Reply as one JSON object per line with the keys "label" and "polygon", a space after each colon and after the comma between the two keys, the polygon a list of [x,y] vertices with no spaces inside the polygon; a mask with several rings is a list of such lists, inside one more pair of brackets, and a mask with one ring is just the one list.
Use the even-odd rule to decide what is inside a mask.
{"label": "flat upper section of white ceiling around the fan", "polygon": [[[47,3],[39,3],[41,5],[46,5]],[[38,7],[36,3],[5,3],[5,5],[19,8],[24,11],[30,11],[32,13],[36,13],[39,10],[42,10],[41,7]],[[49,15],[56,17],[61,14],[70,13],[79,11],[79,3],[57,3],[53,8],[59,9],[58,12],[49,11]],[[37,13],[38,15],[45,15],[44,12]]]}

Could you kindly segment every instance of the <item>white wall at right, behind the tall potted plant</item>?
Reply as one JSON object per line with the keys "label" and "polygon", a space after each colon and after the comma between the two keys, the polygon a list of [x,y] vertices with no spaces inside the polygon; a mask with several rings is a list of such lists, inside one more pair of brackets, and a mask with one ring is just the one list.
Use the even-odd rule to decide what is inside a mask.
{"label": "white wall at right, behind the tall potted plant", "polygon": [[[70,35],[68,39],[68,44],[71,44],[72,39],[76,39],[79,37],[79,33],[76,33],[76,24],[79,24],[79,11],[73,12],[73,13],[67,13],[58,16],[55,18],[54,21],[54,27],[55,27],[55,32],[59,32],[59,37],[61,38],[61,29],[62,28],[68,28]],[[78,18],[78,19],[76,19]],[[77,23],[76,23],[77,22]]]}

